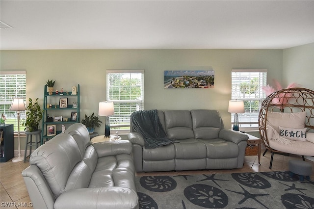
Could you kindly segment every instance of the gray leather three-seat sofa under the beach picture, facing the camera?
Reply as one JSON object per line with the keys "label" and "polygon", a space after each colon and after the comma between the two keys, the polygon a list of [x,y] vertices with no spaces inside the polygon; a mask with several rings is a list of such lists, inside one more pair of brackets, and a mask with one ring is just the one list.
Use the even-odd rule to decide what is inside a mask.
{"label": "gray leather three-seat sofa under the beach picture, facing the camera", "polygon": [[243,167],[248,136],[224,129],[218,111],[158,110],[157,114],[168,138],[177,142],[145,149],[143,135],[131,124],[128,139],[137,172]]}

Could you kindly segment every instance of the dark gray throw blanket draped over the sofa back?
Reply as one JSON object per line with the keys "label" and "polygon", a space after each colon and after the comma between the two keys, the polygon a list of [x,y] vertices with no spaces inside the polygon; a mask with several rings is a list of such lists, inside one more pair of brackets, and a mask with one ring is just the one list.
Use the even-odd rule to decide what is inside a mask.
{"label": "dark gray throw blanket draped over the sofa back", "polygon": [[133,130],[143,135],[145,149],[154,149],[173,143],[168,139],[159,121],[157,110],[139,110],[131,114]]}

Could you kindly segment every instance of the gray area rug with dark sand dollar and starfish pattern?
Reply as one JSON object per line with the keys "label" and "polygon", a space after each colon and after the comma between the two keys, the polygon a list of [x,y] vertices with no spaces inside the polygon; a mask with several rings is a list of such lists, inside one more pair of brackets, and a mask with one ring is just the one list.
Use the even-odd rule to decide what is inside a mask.
{"label": "gray area rug with dark sand dollar and starfish pattern", "polygon": [[314,181],[289,171],[136,177],[140,209],[314,209]]}

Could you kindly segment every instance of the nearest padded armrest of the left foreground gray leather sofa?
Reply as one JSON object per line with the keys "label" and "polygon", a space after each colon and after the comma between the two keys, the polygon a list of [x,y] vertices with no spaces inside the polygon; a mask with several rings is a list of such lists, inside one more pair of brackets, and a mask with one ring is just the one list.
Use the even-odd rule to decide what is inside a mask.
{"label": "nearest padded armrest of the left foreground gray leather sofa", "polygon": [[54,203],[54,209],[133,209],[137,206],[136,191],[119,186],[69,190]]}

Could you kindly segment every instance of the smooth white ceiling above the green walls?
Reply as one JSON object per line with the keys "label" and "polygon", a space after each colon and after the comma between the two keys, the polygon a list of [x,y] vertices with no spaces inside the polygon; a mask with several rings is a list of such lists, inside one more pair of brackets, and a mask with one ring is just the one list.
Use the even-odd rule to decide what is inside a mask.
{"label": "smooth white ceiling above the green walls", "polygon": [[1,50],[286,49],[314,42],[314,0],[0,0]]}

